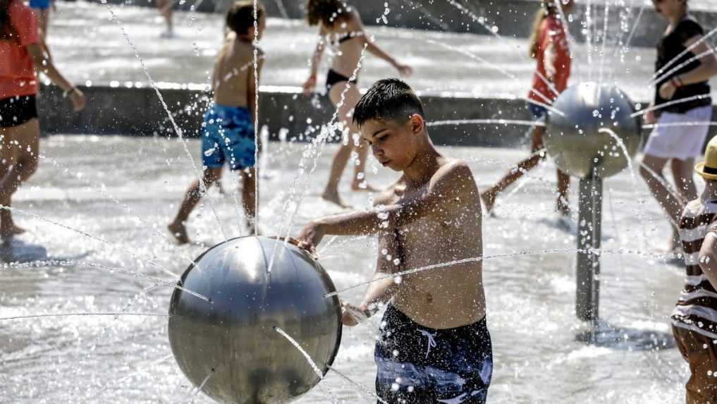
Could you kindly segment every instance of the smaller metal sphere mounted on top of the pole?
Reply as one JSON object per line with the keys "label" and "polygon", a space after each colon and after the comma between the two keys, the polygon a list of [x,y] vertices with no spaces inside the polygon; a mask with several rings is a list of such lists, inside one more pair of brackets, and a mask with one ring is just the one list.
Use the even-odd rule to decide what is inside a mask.
{"label": "smaller metal sphere mounted on top of the pole", "polygon": [[556,164],[568,174],[585,178],[609,177],[627,166],[617,141],[622,139],[630,157],[640,147],[640,119],[632,118],[632,102],[618,88],[579,83],[566,89],[550,111],[545,146]]}

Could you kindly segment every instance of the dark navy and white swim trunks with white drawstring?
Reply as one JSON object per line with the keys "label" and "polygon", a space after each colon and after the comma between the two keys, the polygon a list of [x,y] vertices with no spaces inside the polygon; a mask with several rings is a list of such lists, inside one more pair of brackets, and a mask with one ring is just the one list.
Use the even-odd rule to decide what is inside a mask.
{"label": "dark navy and white swim trunks with white drawstring", "polygon": [[376,342],[376,394],[387,403],[483,404],[493,375],[485,318],[429,329],[388,306]]}

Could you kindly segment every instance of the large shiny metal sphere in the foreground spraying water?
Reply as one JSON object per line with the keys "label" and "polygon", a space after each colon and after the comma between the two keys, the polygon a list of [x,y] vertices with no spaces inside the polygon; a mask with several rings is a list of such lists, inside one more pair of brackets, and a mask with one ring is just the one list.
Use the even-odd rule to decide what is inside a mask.
{"label": "large shiny metal sphere in the foreground spraying water", "polygon": [[[274,265],[267,271],[275,246]],[[186,377],[225,403],[287,403],[319,377],[295,339],[324,373],[341,343],[336,288],[308,253],[272,238],[227,240],[189,266],[169,306],[169,343]],[[211,375],[207,379],[207,377]]]}

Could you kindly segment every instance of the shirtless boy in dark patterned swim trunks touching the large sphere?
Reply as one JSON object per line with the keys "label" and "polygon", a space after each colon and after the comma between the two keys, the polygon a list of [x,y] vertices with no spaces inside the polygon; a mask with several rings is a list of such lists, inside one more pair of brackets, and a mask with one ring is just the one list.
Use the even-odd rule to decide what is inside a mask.
{"label": "shirtless boy in dark patterned swim trunks touching the large sphere", "polygon": [[[379,236],[374,281],[352,312],[388,303],[376,343],[376,393],[388,403],[485,403],[493,352],[485,323],[480,261],[412,273],[412,268],[483,254],[480,196],[465,162],[433,146],[421,101],[397,79],[380,80],[353,113],[381,165],[401,178],[374,210],[322,217],[298,236],[313,250],[324,235]],[[390,259],[388,255],[391,255]],[[389,276],[388,278],[385,278]]]}

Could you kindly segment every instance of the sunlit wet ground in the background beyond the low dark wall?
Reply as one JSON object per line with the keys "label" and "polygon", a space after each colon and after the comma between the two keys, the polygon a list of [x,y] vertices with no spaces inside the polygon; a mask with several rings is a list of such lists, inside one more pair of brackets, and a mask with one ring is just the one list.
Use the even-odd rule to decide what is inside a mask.
{"label": "sunlit wet ground in the background beyond the low dark wall", "polygon": [[[368,20],[381,16],[362,17]],[[57,65],[75,83],[146,85],[148,79],[129,39],[153,80],[163,85],[201,87],[207,83],[222,45],[222,16],[177,12],[175,19],[176,37],[163,39],[163,20],[154,9],[82,1],[58,3],[49,29],[49,44]],[[632,24],[629,20],[626,23]],[[391,55],[414,67],[408,83],[423,93],[513,98],[526,95],[531,85],[535,62],[528,58],[525,39],[386,27],[369,27],[368,32]],[[262,85],[299,90],[308,75],[308,59],[317,34],[318,29],[300,20],[269,19],[260,45],[267,56]],[[608,45],[618,36],[627,38],[628,34],[609,32]],[[617,84],[633,100],[652,98],[649,83],[655,50],[636,47],[623,54],[608,46],[603,57],[602,41],[594,44],[590,56],[587,50],[587,44],[574,47],[571,83],[599,81],[602,77]],[[322,71],[325,70],[326,66]],[[367,87],[375,80],[396,75],[385,62],[370,56],[361,70],[361,85]],[[717,81],[713,80],[713,91],[716,88]]]}

